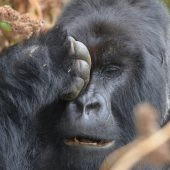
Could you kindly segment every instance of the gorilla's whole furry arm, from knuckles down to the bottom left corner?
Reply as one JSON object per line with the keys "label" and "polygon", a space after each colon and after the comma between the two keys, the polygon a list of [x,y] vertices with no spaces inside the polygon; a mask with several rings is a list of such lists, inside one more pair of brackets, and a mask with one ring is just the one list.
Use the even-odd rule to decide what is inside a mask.
{"label": "gorilla's whole furry arm, from knuckles down to the bottom left corner", "polygon": [[32,169],[36,113],[54,100],[77,97],[89,79],[89,57],[58,28],[1,56],[0,169]]}

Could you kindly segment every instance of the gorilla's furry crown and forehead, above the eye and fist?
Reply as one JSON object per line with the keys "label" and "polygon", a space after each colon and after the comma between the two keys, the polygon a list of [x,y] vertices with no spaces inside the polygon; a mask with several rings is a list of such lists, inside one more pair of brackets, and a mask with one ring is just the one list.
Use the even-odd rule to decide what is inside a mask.
{"label": "gorilla's furry crown and forehead, above the eye and fist", "polygon": [[[99,50],[102,52],[102,44],[109,44],[108,48],[104,48],[105,51],[111,47],[118,56],[123,54],[132,56],[138,51],[140,53],[145,51],[159,61],[162,60],[160,49],[164,49],[166,43],[162,39],[165,36],[166,17],[153,15],[155,12],[153,5],[140,6],[140,3],[116,0],[112,1],[115,3],[111,6],[110,3],[108,4],[111,1],[100,1],[107,8],[98,6],[101,5],[100,3],[94,3],[94,8],[93,1],[83,2],[87,14],[83,15],[81,10],[73,13],[68,11],[67,16],[64,16],[67,22],[64,22],[63,26],[69,35],[83,42],[93,53]],[[127,4],[122,6],[122,3]],[[136,8],[135,5],[139,7]],[[157,12],[164,11],[158,8]]]}

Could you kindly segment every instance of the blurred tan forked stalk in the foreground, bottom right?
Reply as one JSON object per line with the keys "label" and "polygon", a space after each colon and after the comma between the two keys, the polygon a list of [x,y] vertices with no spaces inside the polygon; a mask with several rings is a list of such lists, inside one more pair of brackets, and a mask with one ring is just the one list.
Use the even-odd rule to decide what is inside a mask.
{"label": "blurred tan forked stalk in the foreground, bottom right", "polygon": [[141,160],[154,165],[170,162],[170,124],[158,130],[158,114],[148,104],[139,105],[135,115],[137,139],[110,154],[100,170],[130,170]]}

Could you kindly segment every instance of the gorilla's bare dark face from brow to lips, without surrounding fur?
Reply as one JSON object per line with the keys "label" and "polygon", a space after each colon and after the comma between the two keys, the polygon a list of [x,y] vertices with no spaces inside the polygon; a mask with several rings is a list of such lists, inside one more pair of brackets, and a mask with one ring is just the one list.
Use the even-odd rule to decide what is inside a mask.
{"label": "gorilla's bare dark face from brow to lips, without surrounding fur", "polygon": [[[118,33],[116,37],[101,37],[100,42],[87,46],[92,57],[90,83],[75,101],[65,104],[57,126],[66,136],[67,146],[98,150],[115,145],[120,134],[117,119],[124,114],[122,98],[128,90],[135,95],[133,82],[144,66],[136,44],[123,33],[121,37]],[[126,103],[128,115],[132,110],[130,101]]]}

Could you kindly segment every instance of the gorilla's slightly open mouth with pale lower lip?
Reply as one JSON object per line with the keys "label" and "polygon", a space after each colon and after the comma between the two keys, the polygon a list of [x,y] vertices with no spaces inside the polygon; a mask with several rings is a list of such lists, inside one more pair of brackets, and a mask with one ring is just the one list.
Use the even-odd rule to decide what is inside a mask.
{"label": "gorilla's slightly open mouth with pale lower lip", "polygon": [[70,139],[65,139],[64,143],[68,146],[109,147],[113,145],[114,141],[73,137]]}

